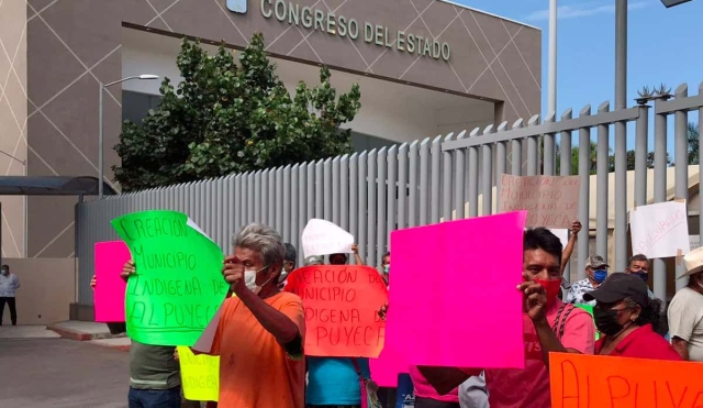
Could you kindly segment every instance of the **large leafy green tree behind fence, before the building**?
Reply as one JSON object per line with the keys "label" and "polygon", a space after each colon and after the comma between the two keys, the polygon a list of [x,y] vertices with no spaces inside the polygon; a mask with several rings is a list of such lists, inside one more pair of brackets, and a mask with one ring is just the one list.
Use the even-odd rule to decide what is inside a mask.
{"label": "large leafy green tree behind fence, before the building", "polygon": [[276,75],[264,36],[254,34],[235,64],[220,46],[213,56],[183,40],[177,59],[183,81],[161,82],[161,102],[141,125],[125,121],[113,166],[123,191],[214,178],[232,173],[350,153],[361,104],[357,84],[337,97],[327,67],[320,85],[300,82],[294,97]]}

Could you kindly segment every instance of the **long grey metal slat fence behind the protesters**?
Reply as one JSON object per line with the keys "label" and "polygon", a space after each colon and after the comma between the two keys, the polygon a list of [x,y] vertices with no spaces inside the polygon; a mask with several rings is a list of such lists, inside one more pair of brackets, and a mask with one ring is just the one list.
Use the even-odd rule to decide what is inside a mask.
{"label": "long grey metal slat fence behind the protesters", "polygon": [[[636,206],[647,203],[647,154],[649,110],[654,102],[654,202],[667,197],[667,120],[674,118],[676,197],[688,199],[688,113],[699,112],[703,130],[703,84],[699,95],[688,96],[681,85],[673,97],[659,96],[629,109],[610,111],[607,102],[592,114],[587,106],[578,118],[567,110],[560,118],[540,123],[533,117],[512,126],[502,123],[470,133],[448,134],[371,150],[319,162],[302,163],[213,180],[189,183],[88,201],[77,206],[76,244],[79,261],[79,301],[91,304],[89,288],[93,273],[96,242],[116,240],[109,222],[132,211],[170,209],[186,212],[222,249],[230,251],[230,239],[250,222],[275,227],[286,242],[299,250],[300,235],[308,220],[322,218],[335,222],[356,236],[368,265],[378,265],[388,251],[389,234],[397,229],[424,225],[454,218],[494,212],[496,176],[570,175],[573,133],[578,133],[578,169],[581,176],[579,219],[588,229],[589,196],[598,194],[595,252],[607,254],[609,212],[614,213],[614,255],[611,265],[624,271],[627,261],[627,139],[614,140],[615,206],[609,208],[610,128],[635,122]],[[700,132],[703,133],[703,132]],[[598,191],[590,186],[591,141],[598,144]],[[560,168],[556,168],[557,143]],[[525,156],[525,157],[523,157]],[[603,159],[604,158],[604,159]],[[703,174],[703,172],[702,172]],[[621,194],[622,192],[622,194]],[[703,207],[703,200],[701,200]],[[703,208],[700,209],[703,212]],[[703,218],[700,218],[703,231]],[[589,241],[579,240],[577,278],[584,277]],[[300,252],[300,251],[299,251]],[[428,254],[431,256],[431,254]],[[302,254],[299,254],[302,261]],[[666,299],[667,276],[662,260],[654,262],[654,291]],[[677,266],[677,276],[682,273]],[[567,278],[569,274],[566,274]],[[682,283],[680,283],[682,284]]]}

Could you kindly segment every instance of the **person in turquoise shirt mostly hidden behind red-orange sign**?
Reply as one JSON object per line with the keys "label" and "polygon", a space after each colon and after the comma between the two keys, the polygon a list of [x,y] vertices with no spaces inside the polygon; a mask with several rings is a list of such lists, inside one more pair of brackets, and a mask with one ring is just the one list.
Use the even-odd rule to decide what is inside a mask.
{"label": "person in turquoise shirt mostly hidden behind red-orange sign", "polygon": [[[364,265],[358,246],[352,245],[357,265]],[[330,255],[330,264],[345,265],[346,254]],[[308,408],[361,407],[360,379],[369,379],[368,359],[308,357]]]}

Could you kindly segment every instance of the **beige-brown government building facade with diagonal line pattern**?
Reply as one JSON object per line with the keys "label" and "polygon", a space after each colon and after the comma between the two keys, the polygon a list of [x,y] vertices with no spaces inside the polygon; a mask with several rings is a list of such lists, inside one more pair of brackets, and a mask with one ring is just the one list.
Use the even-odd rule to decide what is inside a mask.
{"label": "beige-brown government building facade with diagonal line pattern", "polygon": [[[183,36],[242,49],[255,32],[291,88],[315,84],[321,65],[341,91],[360,84],[361,111],[348,124],[359,148],[540,110],[540,31],[448,1],[4,0],[0,170],[97,176],[101,84],[135,74],[178,81]],[[116,190],[110,167],[120,159],[112,146],[121,121],[157,97],[158,81],[104,95],[105,180]],[[0,200],[4,256],[75,255],[77,198]]]}

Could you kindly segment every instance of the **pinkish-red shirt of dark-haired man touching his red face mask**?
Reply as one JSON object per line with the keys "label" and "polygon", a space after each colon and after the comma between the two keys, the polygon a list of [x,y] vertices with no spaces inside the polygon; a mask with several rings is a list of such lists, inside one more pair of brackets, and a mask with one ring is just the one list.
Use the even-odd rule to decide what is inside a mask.
{"label": "pinkish-red shirt of dark-haired man touching his red face mask", "polygon": [[[561,300],[557,299],[547,309],[547,321],[554,327]],[[570,308],[571,306],[567,306]],[[563,315],[566,315],[565,309]],[[549,373],[542,357],[542,348],[535,326],[527,315],[523,316],[525,339],[525,370],[487,370],[486,385],[491,408],[549,408]],[[557,329],[558,332],[558,329]],[[566,320],[563,337],[560,339],[566,349],[578,350],[583,354],[593,354],[595,333],[591,316],[573,308]]]}

